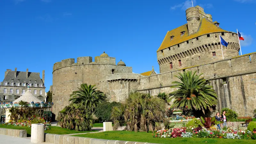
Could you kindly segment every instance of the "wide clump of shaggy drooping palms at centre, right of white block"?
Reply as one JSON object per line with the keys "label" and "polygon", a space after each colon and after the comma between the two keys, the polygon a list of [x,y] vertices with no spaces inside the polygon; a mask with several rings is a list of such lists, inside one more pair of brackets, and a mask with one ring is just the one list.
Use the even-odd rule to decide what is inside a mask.
{"label": "wide clump of shaggy drooping palms at centre, right of white block", "polygon": [[126,130],[148,132],[160,129],[164,112],[164,100],[149,94],[132,92],[123,106],[113,108],[111,118],[115,130],[119,125],[126,124]]}

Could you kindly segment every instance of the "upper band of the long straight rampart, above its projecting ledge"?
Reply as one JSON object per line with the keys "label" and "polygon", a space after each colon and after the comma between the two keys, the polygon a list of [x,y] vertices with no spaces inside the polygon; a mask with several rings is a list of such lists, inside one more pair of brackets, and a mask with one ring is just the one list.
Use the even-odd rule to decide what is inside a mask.
{"label": "upper band of the long straight rampart, above its projecting ledge", "polygon": [[178,80],[175,75],[183,71],[197,71],[203,73],[206,79],[220,79],[223,77],[239,76],[248,73],[256,73],[256,52],[217,60],[214,62],[172,70],[154,76],[141,77],[140,86],[137,90],[159,88],[170,86],[173,81]]}

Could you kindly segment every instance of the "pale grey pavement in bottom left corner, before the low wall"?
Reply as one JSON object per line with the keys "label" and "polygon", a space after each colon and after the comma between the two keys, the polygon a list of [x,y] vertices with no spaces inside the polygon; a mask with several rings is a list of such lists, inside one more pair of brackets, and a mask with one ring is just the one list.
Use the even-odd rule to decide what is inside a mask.
{"label": "pale grey pavement in bottom left corner, before the low wall", "polygon": [[[13,136],[3,135],[3,134],[0,134],[0,140],[1,140],[0,143],[33,144],[30,142],[31,140],[28,138],[19,138],[19,137],[13,137]],[[44,143],[37,143],[37,144],[50,144],[50,143],[44,142]]]}

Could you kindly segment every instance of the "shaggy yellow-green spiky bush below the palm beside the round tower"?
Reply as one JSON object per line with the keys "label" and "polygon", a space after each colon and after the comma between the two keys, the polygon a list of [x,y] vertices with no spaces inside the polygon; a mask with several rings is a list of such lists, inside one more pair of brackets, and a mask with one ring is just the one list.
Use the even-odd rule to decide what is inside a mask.
{"label": "shaggy yellow-green spiky bush below the palm beside the round tower", "polygon": [[70,104],[63,108],[57,117],[58,124],[62,128],[76,131],[89,131],[94,121],[90,110],[83,105]]}

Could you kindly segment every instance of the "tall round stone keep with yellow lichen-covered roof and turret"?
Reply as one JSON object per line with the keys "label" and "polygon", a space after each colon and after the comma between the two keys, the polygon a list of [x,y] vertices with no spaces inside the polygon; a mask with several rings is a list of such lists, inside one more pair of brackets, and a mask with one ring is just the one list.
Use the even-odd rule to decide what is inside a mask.
{"label": "tall round stone keep with yellow lichen-covered roof and turret", "polygon": [[168,31],[157,50],[160,73],[223,60],[219,35],[228,43],[222,45],[224,59],[239,55],[237,34],[212,22],[202,7],[188,8],[186,18],[187,24]]}

